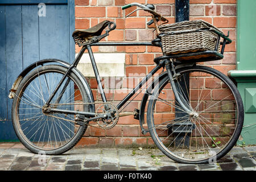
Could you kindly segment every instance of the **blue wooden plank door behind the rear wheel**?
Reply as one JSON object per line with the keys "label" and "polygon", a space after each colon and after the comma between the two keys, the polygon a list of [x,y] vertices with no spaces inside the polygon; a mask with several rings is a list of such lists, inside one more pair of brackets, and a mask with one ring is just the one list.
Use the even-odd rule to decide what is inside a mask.
{"label": "blue wooden plank door behind the rear wheel", "polygon": [[18,141],[8,98],[15,78],[35,61],[73,61],[74,30],[73,0],[0,0],[0,142]]}

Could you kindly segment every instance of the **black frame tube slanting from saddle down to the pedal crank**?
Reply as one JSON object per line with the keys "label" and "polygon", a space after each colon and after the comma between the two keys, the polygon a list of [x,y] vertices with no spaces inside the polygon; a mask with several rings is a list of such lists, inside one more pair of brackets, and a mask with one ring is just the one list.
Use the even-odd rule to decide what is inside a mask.
{"label": "black frame tube slanting from saddle down to the pedal crank", "polygon": [[95,77],[96,77],[96,80],[98,83],[98,89],[100,90],[102,101],[107,102],[105,92],[102,88],[101,78],[100,78],[100,75],[98,74],[98,68],[97,68],[97,65],[94,60],[92,48],[90,47],[90,45],[87,45],[86,48],[88,49],[88,52],[89,52],[90,61],[92,62],[93,71],[94,71],[94,74],[95,74]]}

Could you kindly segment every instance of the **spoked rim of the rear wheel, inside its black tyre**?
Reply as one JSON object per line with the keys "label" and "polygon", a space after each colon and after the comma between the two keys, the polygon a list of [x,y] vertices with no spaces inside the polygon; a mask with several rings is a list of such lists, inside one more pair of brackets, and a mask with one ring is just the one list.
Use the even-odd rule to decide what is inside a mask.
{"label": "spoked rim of the rear wheel, inside its black tyre", "polygon": [[[64,73],[56,70],[40,70],[39,68],[38,72],[24,84],[22,92],[17,96],[16,125],[23,139],[31,146],[38,150],[56,150],[71,142],[82,127],[67,121],[73,121],[74,115],[43,113],[43,105],[46,104]],[[64,88],[62,84],[51,104],[56,104],[60,98],[58,104],[64,105],[55,105],[55,108],[84,111],[84,106],[73,105],[82,103],[84,98],[78,84],[71,77],[65,78],[64,83],[68,79],[69,84],[65,91],[61,93]]]}

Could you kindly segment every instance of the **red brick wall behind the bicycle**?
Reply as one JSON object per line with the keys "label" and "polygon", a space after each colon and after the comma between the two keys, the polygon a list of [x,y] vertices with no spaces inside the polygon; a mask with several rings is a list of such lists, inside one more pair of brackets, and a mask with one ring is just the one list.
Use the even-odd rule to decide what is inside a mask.
{"label": "red brick wall behind the bicycle", "polygon": [[[137,11],[128,18],[125,15],[135,10],[135,7],[122,10],[123,5],[138,2],[142,4],[154,4],[156,11],[163,14],[170,23],[175,22],[175,0],[75,0],[75,27],[76,30],[85,29],[108,19],[117,24],[117,28],[102,41],[150,41],[154,39],[152,25],[146,26],[151,19],[150,14]],[[225,34],[230,31],[233,40],[225,48],[224,59],[210,61],[205,64],[227,74],[229,70],[236,68],[236,0],[190,0],[190,19],[203,19],[220,28]],[[76,52],[81,47],[76,45]],[[126,94],[155,67],[152,61],[154,57],[162,55],[158,47],[146,46],[117,46],[117,47],[93,47],[94,52],[124,52],[125,74],[128,77],[102,78],[102,84],[108,101],[117,104]],[[94,94],[94,99],[101,100],[97,92],[95,78],[87,78]],[[139,94],[123,111],[139,109],[143,92]],[[145,125],[146,126],[146,125]],[[85,137],[79,145],[119,145],[119,144],[152,144],[149,134],[141,134],[139,121],[133,119],[133,115],[119,118],[118,124],[110,130],[102,130],[88,127]]]}

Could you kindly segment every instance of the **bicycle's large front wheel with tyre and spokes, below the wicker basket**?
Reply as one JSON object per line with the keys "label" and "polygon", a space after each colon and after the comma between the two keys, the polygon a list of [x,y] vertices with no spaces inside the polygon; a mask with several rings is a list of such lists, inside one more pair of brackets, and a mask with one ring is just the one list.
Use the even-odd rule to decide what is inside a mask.
{"label": "bicycle's large front wheel with tyre and spokes, below the wicker basket", "polygon": [[168,75],[153,90],[147,125],[156,146],[180,163],[213,163],[236,144],[243,125],[243,104],[233,82],[203,66],[176,71],[176,87],[192,113],[175,100]]}

